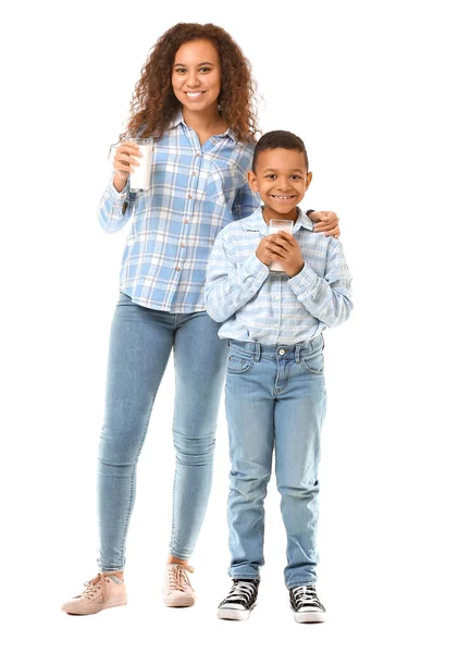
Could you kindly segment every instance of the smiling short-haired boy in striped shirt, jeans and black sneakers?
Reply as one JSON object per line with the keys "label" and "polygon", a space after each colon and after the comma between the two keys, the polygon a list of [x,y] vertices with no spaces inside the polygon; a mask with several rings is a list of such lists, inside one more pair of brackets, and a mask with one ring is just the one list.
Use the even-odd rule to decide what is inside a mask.
{"label": "smiling short-haired boy in striped shirt, jeans and black sneakers", "polygon": [[[289,132],[258,141],[248,182],[263,206],[218,235],[207,271],[207,311],[228,338],[226,416],[231,455],[227,506],[233,586],[223,619],[247,619],[263,565],[263,501],[275,473],[287,535],[286,588],[296,621],[323,621],[314,583],[318,466],[325,414],[323,336],[347,320],[351,278],[342,245],[313,232],[297,206],[310,185],[307,151]],[[270,235],[271,219],[294,235]],[[284,272],[270,272],[273,261]]]}

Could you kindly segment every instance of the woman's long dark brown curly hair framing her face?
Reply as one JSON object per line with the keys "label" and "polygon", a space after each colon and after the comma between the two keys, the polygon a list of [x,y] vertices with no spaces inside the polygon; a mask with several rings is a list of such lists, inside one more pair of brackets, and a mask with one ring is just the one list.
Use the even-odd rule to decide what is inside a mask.
{"label": "woman's long dark brown curly hair framing her face", "polygon": [[175,53],[191,40],[211,41],[221,59],[221,91],[218,98],[221,116],[243,141],[255,141],[259,132],[253,108],[255,82],[251,65],[225,29],[212,23],[178,23],[163,34],[153,46],[141,70],[131,102],[126,134],[160,137],[182,104],[172,87]]}

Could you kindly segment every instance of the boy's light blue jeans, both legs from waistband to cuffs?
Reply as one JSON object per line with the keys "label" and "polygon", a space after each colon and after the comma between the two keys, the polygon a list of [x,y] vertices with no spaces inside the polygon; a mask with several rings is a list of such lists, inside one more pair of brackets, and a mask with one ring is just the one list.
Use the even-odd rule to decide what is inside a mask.
{"label": "boy's light blue jeans, both legs from waistband to cuffs", "polygon": [[318,466],[326,409],[323,337],[299,345],[230,341],[226,416],[231,578],[258,578],[272,456],[287,538],[288,589],[315,581]]}

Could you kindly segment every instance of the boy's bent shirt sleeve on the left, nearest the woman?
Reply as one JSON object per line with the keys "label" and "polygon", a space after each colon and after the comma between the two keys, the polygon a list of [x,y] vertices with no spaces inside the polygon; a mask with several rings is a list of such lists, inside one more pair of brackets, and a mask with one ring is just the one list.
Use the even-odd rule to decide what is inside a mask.
{"label": "boy's bent shirt sleeve on the left, nearest the woman", "polygon": [[269,275],[268,266],[255,252],[237,266],[231,236],[226,230],[220,232],[207,267],[206,309],[215,322],[225,322],[245,306]]}

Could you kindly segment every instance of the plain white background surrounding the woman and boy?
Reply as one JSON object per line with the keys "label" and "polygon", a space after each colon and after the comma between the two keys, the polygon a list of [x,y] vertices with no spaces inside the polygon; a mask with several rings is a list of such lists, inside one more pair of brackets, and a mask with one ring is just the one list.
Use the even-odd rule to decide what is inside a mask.
{"label": "plain white background surrounding the woman and boy", "polygon": [[[456,650],[458,60],[453,2],[22,2],[3,16],[2,638],[8,651]],[[71,618],[97,572],[96,453],[126,231],[96,210],[156,39],[214,22],[258,81],[263,131],[298,133],[308,206],[335,210],[355,311],[326,337],[319,592],[294,623],[274,483],[245,624],[220,621],[227,438],[191,563],[198,603],[161,604],[174,454],[168,369],[138,469],[128,606]],[[455,391],[455,392],[454,392]],[[9,633],[11,628],[11,634]],[[454,642],[455,638],[455,642]],[[269,648],[270,650],[270,648]]]}

